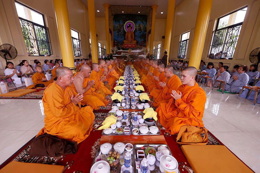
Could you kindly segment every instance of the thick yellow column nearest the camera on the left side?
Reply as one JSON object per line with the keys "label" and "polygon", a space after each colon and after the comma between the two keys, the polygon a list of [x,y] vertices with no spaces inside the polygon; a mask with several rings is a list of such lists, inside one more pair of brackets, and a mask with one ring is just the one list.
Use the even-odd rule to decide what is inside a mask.
{"label": "thick yellow column nearest the camera on the left side", "polygon": [[75,69],[72,39],[69,26],[69,14],[66,0],[53,0],[63,65]]}

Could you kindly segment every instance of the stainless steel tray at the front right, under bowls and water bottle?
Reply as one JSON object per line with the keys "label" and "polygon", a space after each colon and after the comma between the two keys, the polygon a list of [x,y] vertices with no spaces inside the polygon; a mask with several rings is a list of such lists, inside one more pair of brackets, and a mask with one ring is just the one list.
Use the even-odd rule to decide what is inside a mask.
{"label": "stainless steel tray at the front right, under bowls and water bottle", "polygon": [[[134,148],[133,148],[134,162],[141,162],[142,159],[138,159],[138,158],[137,158],[137,150],[143,150],[143,151],[145,151],[145,149],[142,149],[142,147],[144,147],[145,145],[147,145],[147,144],[136,144],[136,145],[134,145]],[[156,151],[158,151],[158,147],[159,147],[160,145],[166,147],[166,148],[170,151],[170,155],[173,156],[172,151],[171,151],[171,149],[169,148],[168,145],[166,145],[166,144],[149,144],[149,146],[150,146],[150,147],[153,147]],[[147,148],[147,147],[145,147],[145,148]],[[146,157],[146,155],[145,155],[145,157]],[[173,157],[174,157],[174,156],[173,156]],[[154,164],[154,169],[153,169],[153,170],[150,170],[150,173],[161,173],[160,168],[159,168],[158,165],[160,165],[160,161],[158,161],[158,160],[156,159],[155,164]],[[149,166],[150,166],[150,165],[149,165]],[[179,173],[180,173],[179,167],[178,167],[178,171],[179,171]],[[134,172],[138,173],[138,170],[137,170],[137,168],[136,168],[136,163],[134,164]]]}

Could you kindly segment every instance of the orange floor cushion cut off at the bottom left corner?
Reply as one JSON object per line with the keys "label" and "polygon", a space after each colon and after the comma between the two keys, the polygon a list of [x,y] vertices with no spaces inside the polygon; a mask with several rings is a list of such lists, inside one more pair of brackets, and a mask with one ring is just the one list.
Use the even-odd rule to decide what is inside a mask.
{"label": "orange floor cushion cut off at the bottom left corner", "polygon": [[60,165],[47,165],[40,163],[24,163],[12,161],[0,170],[0,173],[61,173],[64,167]]}

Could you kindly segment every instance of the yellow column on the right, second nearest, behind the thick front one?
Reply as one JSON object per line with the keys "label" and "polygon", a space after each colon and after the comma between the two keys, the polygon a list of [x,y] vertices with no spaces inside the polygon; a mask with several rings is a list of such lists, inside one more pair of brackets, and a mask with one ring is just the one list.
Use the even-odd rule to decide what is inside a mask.
{"label": "yellow column on the right, second nearest, behind the thick front one", "polygon": [[[175,0],[169,0],[166,26],[165,26],[164,49],[162,50],[162,52],[164,52],[165,49],[167,50],[168,53],[170,52],[174,7],[175,7]],[[167,57],[167,62],[168,61],[169,61],[169,55]]]}

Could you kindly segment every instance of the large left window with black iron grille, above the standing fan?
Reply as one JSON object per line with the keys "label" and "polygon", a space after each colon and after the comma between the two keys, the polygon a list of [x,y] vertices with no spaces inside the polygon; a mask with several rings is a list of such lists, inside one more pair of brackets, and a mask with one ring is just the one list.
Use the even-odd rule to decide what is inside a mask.
{"label": "large left window with black iron grille, above the standing fan", "polygon": [[28,55],[52,55],[49,30],[43,14],[18,2],[15,2],[15,6]]}

